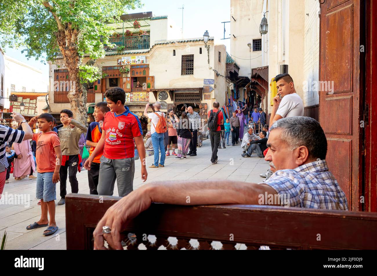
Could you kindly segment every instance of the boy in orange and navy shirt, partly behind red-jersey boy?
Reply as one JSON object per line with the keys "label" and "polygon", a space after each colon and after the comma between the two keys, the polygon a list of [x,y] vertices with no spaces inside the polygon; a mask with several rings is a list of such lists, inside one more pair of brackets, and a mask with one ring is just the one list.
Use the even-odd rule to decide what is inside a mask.
{"label": "boy in orange and navy shirt, partly behind red-jersey boy", "polygon": [[[88,127],[88,131],[86,133],[86,144],[90,146],[89,156],[92,155],[95,147],[100,141],[102,136],[102,127],[103,127],[103,119],[105,117],[106,112],[110,111],[110,108],[107,107],[106,101],[102,101],[94,106],[93,117],[95,122],[90,123]],[[88,182],[89,182],[89,190],[90,195],[98,195],[97,186],[98,186],[98,176],[100,175],[100,164],[101,164],[101,156],[103,151],[100,151],[94,159],[90,166],[90,170],[88,170]]]}

